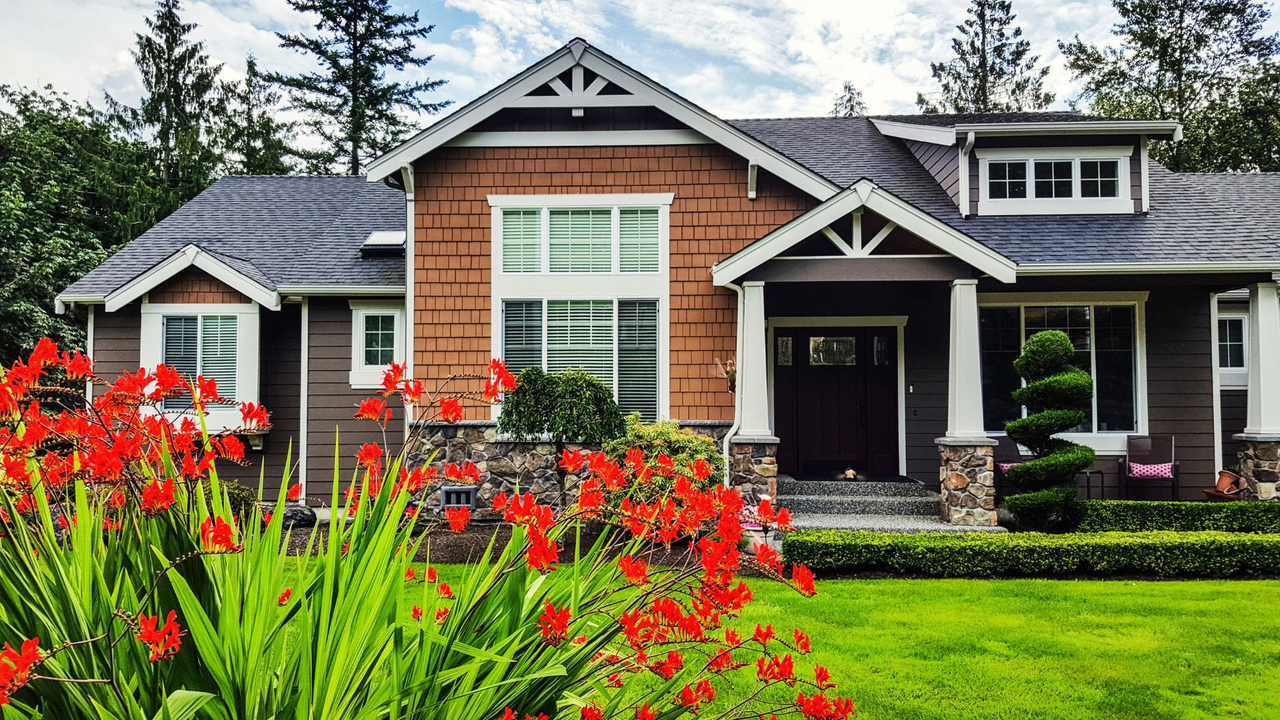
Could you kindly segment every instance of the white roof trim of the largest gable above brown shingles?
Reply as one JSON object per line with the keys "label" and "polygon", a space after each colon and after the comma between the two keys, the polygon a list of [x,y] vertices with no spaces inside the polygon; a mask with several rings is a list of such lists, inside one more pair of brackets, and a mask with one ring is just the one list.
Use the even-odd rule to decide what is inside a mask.
{"label": "white roof trim of the largest gable above brown shingles", "polygon": [[[575,56],[577,58],[576,63]],[[739,131],[689,100],[675,95],[581,40],[575,40],[552,53],[525,72],[490,90],[476,101],[461,108],[458,111],[443,118],[402,142],[394,150],[378,158],[369,165],[366,179],[369,182],[379,182],[396,173],[404,163],[412,163],[431,150],[448,143],[498,110],[520,105],[520,100],[529,95],[529,92],[545,85],[575,64],[591,69],[611,83],[631,92],[637,100],[643,100],[645,105],[658,108],[689,128],[707,136],[710,141],[724,146],[742,158],[755,160],[762,168],[818,200],[827,200],[840,191],[840,187],[831,181]],[[617,99],[617,96],[604,97]],[[627,102],[632,102],[632,100],[627,100]],[[613,104],[618,105],[622,102]],[[581,106],[581,102],[575,106]]]}

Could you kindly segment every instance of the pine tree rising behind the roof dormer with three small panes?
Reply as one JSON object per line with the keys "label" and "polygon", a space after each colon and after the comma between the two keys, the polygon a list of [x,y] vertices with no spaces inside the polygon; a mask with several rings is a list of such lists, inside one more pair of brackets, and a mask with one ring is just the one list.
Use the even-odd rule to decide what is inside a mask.
{"label": "pine tree rising behind the roof dormer with three small panes", "polygon": [[1010,0],[973,0],[969,18],[956,26],[951,40],[955,59],[931,63],[942,91],[936,100],[918,94],[924,113],[1010,113],[1039,110],[1053,101],[1044,91],[1048,67],[1037,69],[1039,55],[1023,38],[1023,28],[1010,29],[1016,15]]}

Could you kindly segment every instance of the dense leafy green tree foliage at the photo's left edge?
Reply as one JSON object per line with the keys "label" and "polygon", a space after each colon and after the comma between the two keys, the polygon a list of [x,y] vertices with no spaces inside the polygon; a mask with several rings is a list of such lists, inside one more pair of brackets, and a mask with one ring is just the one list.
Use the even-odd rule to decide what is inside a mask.
{"label": "dense leafy green tree foliage at the photo's left edge", "polygon": [[82,347],[54,296],[165,211],[155,151],[51,88],[0,86],[0,360],[42,336]]}

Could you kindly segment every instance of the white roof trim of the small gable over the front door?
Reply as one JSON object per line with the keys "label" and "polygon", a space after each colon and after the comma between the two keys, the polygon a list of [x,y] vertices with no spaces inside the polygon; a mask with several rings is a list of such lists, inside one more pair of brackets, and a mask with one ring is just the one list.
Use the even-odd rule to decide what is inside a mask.
{"label": "white roof trim of the small gable over the front door", "polygon": [[721,260],[712,266],[712,279],[717,286],[731,283],[859,208],[897,223],[900,228],[1001,282],[1014,282],[1016,277],[1016,265],[1012,260],[893,196],[872,181],[861,179],[849,190]]}

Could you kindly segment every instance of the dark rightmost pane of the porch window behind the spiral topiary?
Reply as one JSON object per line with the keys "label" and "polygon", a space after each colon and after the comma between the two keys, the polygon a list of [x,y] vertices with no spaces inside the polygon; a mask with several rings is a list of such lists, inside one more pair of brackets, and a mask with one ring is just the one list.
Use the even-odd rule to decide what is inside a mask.
{"label": "dark rightmost pane of the porch window behind the spiral topiary", "polygon": [[1098,395],[1098,432],[1132,432],[1138,428],[1133,307],[1100,306],[1094,313],[1097,369],[1093,384]]}

